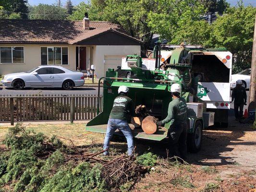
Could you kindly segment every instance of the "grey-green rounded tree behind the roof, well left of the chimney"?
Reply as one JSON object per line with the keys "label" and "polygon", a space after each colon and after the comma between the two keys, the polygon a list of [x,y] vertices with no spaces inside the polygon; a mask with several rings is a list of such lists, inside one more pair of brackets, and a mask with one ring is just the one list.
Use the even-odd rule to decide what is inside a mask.
{"label": "grey-green rounded tree behind the roof, well left of the chimney", "polygon": [[67,18],[67,12],[64,8],[41,3],[31,7],[30,13],[30,19],[65,20]]}

